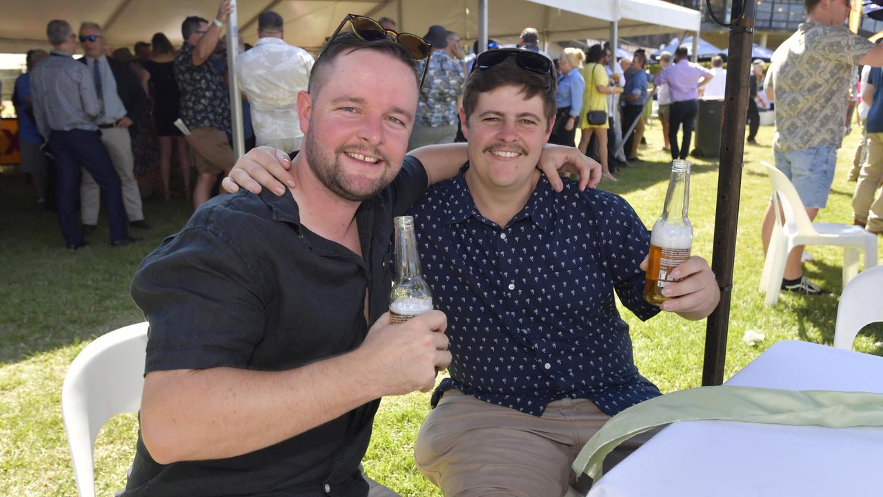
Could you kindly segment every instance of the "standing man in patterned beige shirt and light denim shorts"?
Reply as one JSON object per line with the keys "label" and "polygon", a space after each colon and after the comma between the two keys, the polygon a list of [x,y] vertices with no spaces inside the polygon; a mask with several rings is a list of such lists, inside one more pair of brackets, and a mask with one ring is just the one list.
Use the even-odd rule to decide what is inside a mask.
{"label": "standing man in patterned beige shirt and light denim shorts", "polygon": [[[825,207],[834,180],[837,149],[848,124],[852,66],[883,65],[883,47],[843,27],[849,0],[804,0],[804,7],[807,21],[773,55],[766,95],[776,100],[776,167],[794,183],[813,219]],[[774,223],[771,202],[761,226],[765,252]],[[804,276],[803,253],[803,247],[796,247],[789,254],[782,290],[826,293]]]}

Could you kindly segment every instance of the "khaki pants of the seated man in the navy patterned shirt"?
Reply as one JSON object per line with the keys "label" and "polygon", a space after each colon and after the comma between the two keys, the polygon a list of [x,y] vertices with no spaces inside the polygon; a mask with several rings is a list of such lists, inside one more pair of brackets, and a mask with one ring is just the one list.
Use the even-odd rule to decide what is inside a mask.
{"label": "khaki pants of the seated man in the navy patterned shirt", "polygon": [[[585,399],[551,402],[536,417],[450,390],[423,421],[414,459],[446,497],[561,497],[575,484],[570,464],[608,419]],[[617,447],[605,470],[656,432]],[[589,482],[583,476],[577,487]]]}

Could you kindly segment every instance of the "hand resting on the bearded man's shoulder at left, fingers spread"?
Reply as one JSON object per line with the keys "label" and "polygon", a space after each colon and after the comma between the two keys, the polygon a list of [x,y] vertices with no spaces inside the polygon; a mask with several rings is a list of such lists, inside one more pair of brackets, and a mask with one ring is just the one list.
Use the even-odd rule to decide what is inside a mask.
{"label": "hand resting on the bearded man's shoulder at left, fingers spread", "polygon": [[[239,191],[239,187],[257,195],[261,185],[268,187],[275,195],[285,195],[286,185],[294,187],[291,177],[291,159],[280,149],[256,147],[248,151],[230,170],[230,175],[223,179],[221,186],[230,194]],[[284,185],[282,182],[284,182]]]}

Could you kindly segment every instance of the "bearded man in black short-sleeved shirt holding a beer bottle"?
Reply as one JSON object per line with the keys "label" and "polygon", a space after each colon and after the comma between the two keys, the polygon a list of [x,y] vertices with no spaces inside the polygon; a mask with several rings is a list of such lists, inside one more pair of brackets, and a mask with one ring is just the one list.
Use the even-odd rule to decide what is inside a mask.
{"label": "bearded man in black short-sleeved shirt holding a beer bottle", "polygon": [[295,185],[216,197],[141,264],[147,374],[123,495],[392,494],[359,470],[379,399],[432,388],[450,361],[442,312],[389,325],[392,218],[465,158],[402,166],[412,57],[385,33],[333,37],[298,95]]}

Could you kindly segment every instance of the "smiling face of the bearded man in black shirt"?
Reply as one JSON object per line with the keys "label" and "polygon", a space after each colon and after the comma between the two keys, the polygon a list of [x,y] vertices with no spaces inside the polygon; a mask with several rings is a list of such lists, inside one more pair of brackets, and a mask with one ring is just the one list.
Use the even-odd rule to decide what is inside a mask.
{"label": "smiling face of the bearded man in black shirt", "polygon": [[341,54],[322,72],[321,88],[298,95],[306,161],[330,191],[360,202],[402,167],[417,80],[411,66],[374,50]]}

